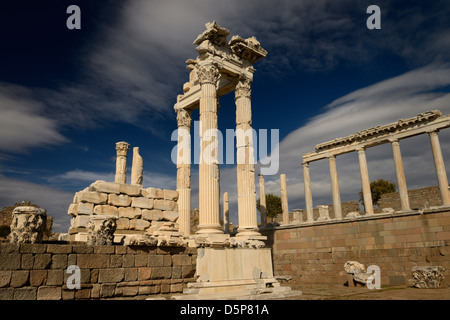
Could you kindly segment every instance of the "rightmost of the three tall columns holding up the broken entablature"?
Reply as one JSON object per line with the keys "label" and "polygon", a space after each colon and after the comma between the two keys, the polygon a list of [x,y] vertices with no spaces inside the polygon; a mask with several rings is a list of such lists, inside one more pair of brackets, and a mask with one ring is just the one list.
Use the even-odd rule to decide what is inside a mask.
{"label": "rightmost of the three tall columns holding up the broken entablature", "polygon": [[236,158],[239,228],[237,236],[260,236],[256,214],[250,80],[239,80],[235,90]]}

